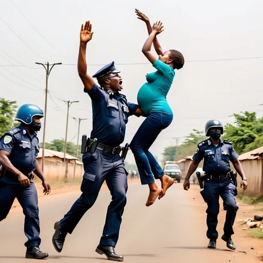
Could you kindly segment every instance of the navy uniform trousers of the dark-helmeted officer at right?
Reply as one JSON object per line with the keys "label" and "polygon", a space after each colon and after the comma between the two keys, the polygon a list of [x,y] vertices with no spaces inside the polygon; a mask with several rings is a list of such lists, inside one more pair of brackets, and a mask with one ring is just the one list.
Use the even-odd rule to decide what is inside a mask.
{"label": "navy uniform trousers of the dark-helmeted officer at right", "polygon": [[207,218],[206,224],[208,231],[206,236],[208,238],[217,238],[217,216],[219,214],[219,196],[223,199],[223,209],[227,211],[226,222],[224,223],[224,234],[231,236],[234,234],[233,224],[236,218],[238,206],[235,201],[237,195],[236,186],[232,183],[232,180],[208,180],[204,182],[204,190],[201,191],[201,195],[204,201],[208,204],[206,210]]}

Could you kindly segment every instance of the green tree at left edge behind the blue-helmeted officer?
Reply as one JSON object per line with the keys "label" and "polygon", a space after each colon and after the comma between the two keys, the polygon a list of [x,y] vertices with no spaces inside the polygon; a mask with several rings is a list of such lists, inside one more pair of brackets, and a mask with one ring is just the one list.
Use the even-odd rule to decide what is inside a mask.
{"label": "green tree at left edge behind the blue-helmeted officer", "polygon": [[14,127],[14,116],[16,112],[16,101],[0,98],[0,136]]}

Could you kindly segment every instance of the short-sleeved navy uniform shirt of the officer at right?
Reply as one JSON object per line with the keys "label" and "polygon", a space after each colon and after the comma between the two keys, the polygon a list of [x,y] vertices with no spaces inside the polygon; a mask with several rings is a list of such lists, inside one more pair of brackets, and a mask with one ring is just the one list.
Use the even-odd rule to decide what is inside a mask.
{"label": "short-sleeved navy uniform shirt of the officer at right", "polygon": [[215,146],[210,139],[197,145],[193,159],[200,162],[204,158],[203,171],[206,174],[227,174],[231,171],[229,161],[238,158],[231,142],[219,141]]}

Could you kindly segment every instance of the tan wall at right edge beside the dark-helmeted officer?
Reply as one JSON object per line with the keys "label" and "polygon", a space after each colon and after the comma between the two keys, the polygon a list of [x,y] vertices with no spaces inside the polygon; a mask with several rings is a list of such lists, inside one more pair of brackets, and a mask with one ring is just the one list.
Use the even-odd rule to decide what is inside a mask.
{"label": "tan wall at right edge beside the dark-helmeted officer", "polygon": [[[251,195],[262,195],[263,194],[263,162],[262,159],[254,160],[243,160],[241,161],[243,170],[248,178],[248,188],[244,194]],[[240,189],[241,178],[237,175],[238,178],[238,193],[242,193]]]}

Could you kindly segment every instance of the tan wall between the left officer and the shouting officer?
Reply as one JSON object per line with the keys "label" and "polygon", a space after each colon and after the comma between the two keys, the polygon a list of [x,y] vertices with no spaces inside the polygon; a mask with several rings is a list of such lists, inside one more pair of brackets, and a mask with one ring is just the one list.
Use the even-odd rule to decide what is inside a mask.
{"label": "tan wall between the left officer and the shouting officer", "polygon": [[[39,161],[41,166],[42,158],[37,158],[37,161]],[[73,179],[74,165],[73,162],[50,161],[47,157],[45,158],[44,174],[48,180],[62,180],[65,178],[67,168],[67,178],[70,180]],[[81,179],[83,174],[83,164],[76,164],[75,179]]]}

